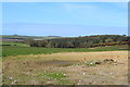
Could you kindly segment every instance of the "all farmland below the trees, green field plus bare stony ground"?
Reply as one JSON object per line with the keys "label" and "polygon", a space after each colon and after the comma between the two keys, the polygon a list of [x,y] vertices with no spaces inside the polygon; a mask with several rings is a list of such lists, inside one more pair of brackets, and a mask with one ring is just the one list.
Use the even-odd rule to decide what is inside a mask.
{"label": "all farmland below the trees, green field plus bare stony ground", "polygon": [[1,45],[4,85],[127,85],[128,82],[128,45],[91,48],[30,47],[20,41]]}

